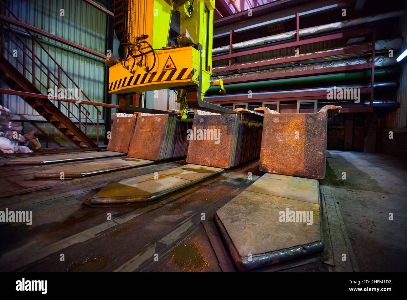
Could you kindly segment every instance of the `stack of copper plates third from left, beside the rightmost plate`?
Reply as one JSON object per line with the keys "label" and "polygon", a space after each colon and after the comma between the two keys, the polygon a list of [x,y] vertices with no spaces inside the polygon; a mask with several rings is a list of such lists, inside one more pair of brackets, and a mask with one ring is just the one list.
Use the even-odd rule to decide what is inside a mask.
{"label": "stack of copper plates third from left, beside the rightmost plate", "polygon": [[260,155],[263,114],[236,111],[227,115],[194,111],[192,129],[197,134],[189,143],[188,163],[228,169]]}

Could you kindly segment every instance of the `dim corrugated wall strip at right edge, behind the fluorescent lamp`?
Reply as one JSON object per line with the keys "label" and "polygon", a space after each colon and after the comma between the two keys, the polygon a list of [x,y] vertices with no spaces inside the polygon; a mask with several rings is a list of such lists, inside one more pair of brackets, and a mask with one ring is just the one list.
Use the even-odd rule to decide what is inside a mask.
{"label": "dim corrugated wall strip at right edge, behind the fluorescent lamp", "polygon": [[[400,28],[403,35],[403,46],[401,51],[407,47],[407,17],[400,18]],[[398,55],[398,53],[394,53]],[[397,91],[397,102],[400,103],[400,108],[389,113],[386,117],[386,128],[405,128],[407,127],[407,58],[401,62],[400,83]]]}

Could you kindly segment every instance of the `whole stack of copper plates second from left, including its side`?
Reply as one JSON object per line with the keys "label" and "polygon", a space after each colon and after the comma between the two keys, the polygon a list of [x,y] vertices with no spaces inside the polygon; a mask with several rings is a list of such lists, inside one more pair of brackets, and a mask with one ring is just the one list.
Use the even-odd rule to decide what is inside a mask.
{"label": "whole stack of copper plates second from left, including its side", "polygon": [[127,156],[155,161],[184,158],[191,126],[192,119],[178,120],[175,114],[140,113]]}

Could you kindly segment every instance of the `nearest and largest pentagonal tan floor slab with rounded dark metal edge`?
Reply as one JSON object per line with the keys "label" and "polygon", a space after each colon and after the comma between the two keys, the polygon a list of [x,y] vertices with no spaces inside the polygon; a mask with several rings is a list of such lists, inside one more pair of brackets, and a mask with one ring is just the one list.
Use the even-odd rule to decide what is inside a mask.
{"label": "nearest and largest pentagonal tan floor slab with rounded dark metal edge", "polygon": [[[264,174],[215,215],[219,230],[240,271],[299,258],[323,248],[318,181],[270,175]],[[284,192],[287,189],[275,185],[276,182],[286,184],[288,189],[295,186],[297,192],[289,191],[287,194]],[[304,185],[309,187],[305,197],[298,193]],[[304,220],[287,222],[287,218],[284,218],[282,221],[281,211],[287,213],[287,209],[308,212],[308,215]]]}

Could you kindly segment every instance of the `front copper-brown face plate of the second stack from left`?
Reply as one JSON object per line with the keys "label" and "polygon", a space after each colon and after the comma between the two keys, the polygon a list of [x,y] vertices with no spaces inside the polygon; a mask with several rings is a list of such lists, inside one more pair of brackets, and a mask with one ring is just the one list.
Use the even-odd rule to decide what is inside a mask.
{"label": "front copper-brown face plate of the second stack from left", "polygon": [[160,160],[160,149],[167,120],[168,115],[145,115],[141,113],[131,136],[127,156]]}

